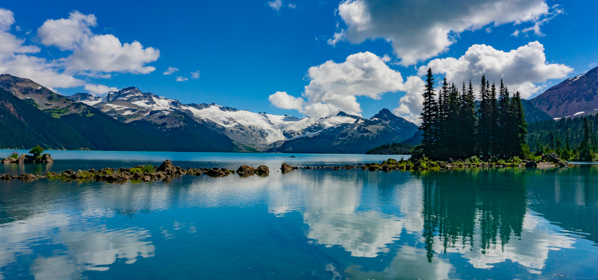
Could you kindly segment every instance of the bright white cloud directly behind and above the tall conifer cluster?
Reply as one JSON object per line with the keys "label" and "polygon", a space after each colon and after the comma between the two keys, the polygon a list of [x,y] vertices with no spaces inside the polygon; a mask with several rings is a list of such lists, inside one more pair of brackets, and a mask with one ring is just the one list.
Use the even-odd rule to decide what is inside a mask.
{"label": "bright white cloud directly behind and above the tall conifer cluster", "polygon": [[[519,91],[523,98],[546,88],[548,79],[566,78],[573,71],[573,68],[565,64],[547,63],[544,46],[538,41],[529,42],[511,51],[496,50],[489,45],[472,45],[458,59],[447,57],[429,61],[427,65],[419,67],[417,74],[425,75],[429,67],[435,74],[446,76],[447,80],[454,82],[457,87],[460,87],[463,81],[468,84],[471,79],[475,90],[482,75],[486,75],[490,82],[494,81],[497,84],[502,78],[511,93]],[[410,83],[407,80],[405,85],[410,85],[413,89],[401,97],[399,107],[393,112],[419,124],[420,120],[417,118],[422,112],[423,81],[419,79]]]}

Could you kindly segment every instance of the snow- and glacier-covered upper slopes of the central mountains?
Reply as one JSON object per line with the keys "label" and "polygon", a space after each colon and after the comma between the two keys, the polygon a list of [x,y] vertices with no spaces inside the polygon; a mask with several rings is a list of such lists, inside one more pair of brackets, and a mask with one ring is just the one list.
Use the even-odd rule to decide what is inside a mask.
{"label": "snow- and glacier-covered upper slopes of the central mountains", "polygon": [[136,87],[123,88],[108,93],[105,97],[78,93],[67,98],[96,107],[123,122],[143,119],[162,128],[184,125],[180,120],[182,113],[197,122],[221,130],[231,140],[245,146],[246,150],[267,150],[294,137],[315,134],[334,125],[352,124],[356,121],[352,116],[343,115],[321,119],[296,118],[237,110],[215,103],[182,104],[178,100],[142,93]]}

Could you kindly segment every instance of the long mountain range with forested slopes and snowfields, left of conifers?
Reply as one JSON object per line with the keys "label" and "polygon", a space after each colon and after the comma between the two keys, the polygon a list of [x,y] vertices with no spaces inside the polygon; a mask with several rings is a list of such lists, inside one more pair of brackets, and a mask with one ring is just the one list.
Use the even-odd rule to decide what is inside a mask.
{"label": "long mountain range with forested slopes and snowfields, left of conifers", "polygon": [[[0,139],[3,148],[41,142],[53,149],[365,153],[417,131],[415,124],[388,109],[370,119],[344,112],[314,119],[254,113],[214,103],[183,104],[135,87],[105,97],[87,93],[61,96],[30,79],[0,75],[0,88],[4,98],[0,106],[19,108],[6,110],[2,116],[3,123],[14,131],[11,141]],[[35,116],[25,118],[22,112]],[[71,137],[33,129],[33,122],[46,127],[53,123],[69,131]],[[25,130],[36,136],[17,141],[18,132]]]}

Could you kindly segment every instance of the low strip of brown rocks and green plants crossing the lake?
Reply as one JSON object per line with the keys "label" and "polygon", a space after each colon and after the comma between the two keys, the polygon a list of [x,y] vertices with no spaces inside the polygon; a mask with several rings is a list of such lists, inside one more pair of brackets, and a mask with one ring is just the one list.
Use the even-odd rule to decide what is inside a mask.
{"label": "low strip of brown rocks and green plants crossing the lake", "polygon": [[[542,161],[520,161],[520,162],[465,162],[461,160],[457,161],[429,161],[428,159],[411,159],[399,160],[389,158],[382,163],[367,163],[358,165],[345,165],[332,166],[332,167],[292,167],[286,163],[283,163],[280,170],[283,173],[297,170],[297,169],[332,169],[332,170],[352,170],[360,168],[362,170],[369,171],[391,171],[391,170],[448,170],[451,168],[515,168],[515,167],[570,167],[579,166],[578,164],[569,164],[566,161],[560,161],[556,155],[545,155],[542,156]],[[138,180],[138,181],[159,181],[169,179],[172,177],[181,177],[183,175],[191,176],[202,176],[208,175],[210,177],[221,177],[229,174],[237,173],[240,176],[246,177],[254,174],[265,176],[270,173],[270,168],[266,165],[260,165],[255,168],[249,165],[241,165],[236,171],[228,170],[227,168],[187,168],[175,167],[169,159],[164,161],[160,167],[149,167],[149,171],[143,171],[148,169],[148,165],[138,165],[132,168],[102,168],[100,170],[94,170],[91,168],[88,171],[83,170],[65,170],[59,173],[49,172],[44,175],[36,174],[21,174],[19,176],[13,176],[11,174],[4,174],[0,176],[0,179],[4,180],[36,180],[40,178],[57,179],[57,180],[97,180],[97,181],[126,181],[126,180]]]}

